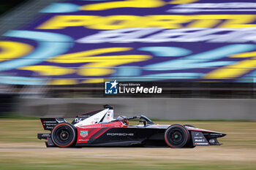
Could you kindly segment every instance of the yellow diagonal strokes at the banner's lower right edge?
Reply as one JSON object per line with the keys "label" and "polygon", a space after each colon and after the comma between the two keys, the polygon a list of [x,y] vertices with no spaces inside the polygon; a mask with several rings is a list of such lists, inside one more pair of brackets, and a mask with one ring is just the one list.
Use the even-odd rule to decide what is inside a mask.
{"label": "yellow diagonal strokes at the banner's lower right edge", "polygon": [[240,77],[247,72],[255,70],[256,67],[256,52],[241,53],[231,55],[230,58],[249,58],[247,60],[238,61],[229,66],[224,66],[221,69],[216,69],[213,72],[206,74],[203,78],[206,79],[232,79]]}

